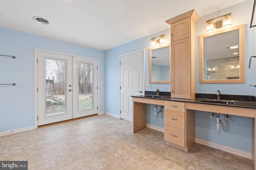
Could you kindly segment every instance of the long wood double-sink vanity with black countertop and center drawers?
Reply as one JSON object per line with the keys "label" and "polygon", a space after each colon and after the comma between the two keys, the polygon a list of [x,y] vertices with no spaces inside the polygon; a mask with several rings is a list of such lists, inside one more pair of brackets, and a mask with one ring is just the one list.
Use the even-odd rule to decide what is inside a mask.
{"label": "long wood double-sink vanity with black countertop and center drawers", "polygon": [[[164,140],[169,145],[189,151],[195,142],[195,111],[218,112],[228,115],[251,117],[252,121],[252,159],[255,169],[256,104],[255,102],[234,101],[226,104],[212,99],[175,99],[170,96],[153,98],[152,96],[132,96],[133,132],[146,127],[146,104],[164,106]],[[222,100],[225,101],[225,100]],[[228,101],[227,101],[228,102]]]}

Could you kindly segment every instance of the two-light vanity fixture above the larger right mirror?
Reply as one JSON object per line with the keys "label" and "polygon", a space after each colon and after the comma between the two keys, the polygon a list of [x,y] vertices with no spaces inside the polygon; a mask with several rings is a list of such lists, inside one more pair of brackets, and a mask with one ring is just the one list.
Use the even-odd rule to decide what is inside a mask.
{"label": "two-light vanity fixture above the larger right mirror", "polygon": [[[225,14],[223,16],[219,16],[216,18],[212,18],[206,21],[206,32],[212,32],[214,28],[226,28],[231,26],[231,13]],[[218,18],[221,18],[220,20],[216,20]]]}

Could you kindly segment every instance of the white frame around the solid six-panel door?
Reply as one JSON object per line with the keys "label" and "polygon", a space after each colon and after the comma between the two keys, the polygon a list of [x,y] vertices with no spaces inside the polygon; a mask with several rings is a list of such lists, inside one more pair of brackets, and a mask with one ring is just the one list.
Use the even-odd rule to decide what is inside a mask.
{"label": "white frame around the solid six-panel door", "polygon": [[[143,70],[143,94],[145,93],[145,49],[139,49],[139,50],[136,50],[136,51],[131,51],[129,53],[124,53],[124,54],[121,54],[119,55],[119,63],[121,62],[121,57],[122,56],[125,56],[125,55],[130,55],[130,54],[133,54],[133,53],[138,53],[138,52],[142,52],[142,70]],[[121,76],[121,66],[119,64],[119,87],[121,86],[121,79],[120,79],[120,76]],[[121,89],[119,88],[119,118],[121,118]]]}

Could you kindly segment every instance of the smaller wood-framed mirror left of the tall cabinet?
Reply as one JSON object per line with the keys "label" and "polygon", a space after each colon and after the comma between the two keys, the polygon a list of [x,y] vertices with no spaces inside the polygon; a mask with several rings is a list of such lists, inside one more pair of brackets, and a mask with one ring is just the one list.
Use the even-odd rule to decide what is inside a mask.
{"label": "smaller wood-framed mirror left of the tall cabinet", "polygon": [[149,49],[149,83],[170,84],[170,44]]}

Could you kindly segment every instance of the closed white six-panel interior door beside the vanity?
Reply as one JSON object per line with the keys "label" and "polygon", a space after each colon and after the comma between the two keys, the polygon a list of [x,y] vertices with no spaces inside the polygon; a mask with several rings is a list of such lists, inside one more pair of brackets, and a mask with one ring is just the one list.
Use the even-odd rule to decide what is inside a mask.
{"label": "closed white six-panel interior door beside the vanity", "polygon": [[132,121],[132,97],[144,91],[143,51],[120,56],[120,117]]}

